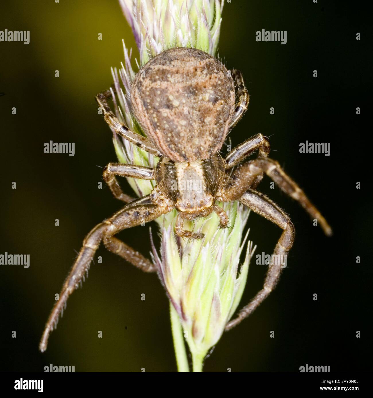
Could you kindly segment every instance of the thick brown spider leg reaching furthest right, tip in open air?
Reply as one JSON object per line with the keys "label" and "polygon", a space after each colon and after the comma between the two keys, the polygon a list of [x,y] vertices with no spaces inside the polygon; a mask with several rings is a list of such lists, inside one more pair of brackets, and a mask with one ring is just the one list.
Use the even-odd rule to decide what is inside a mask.
{"label": "thick brown spider leg reaching furthest right, tip in open air", "polygon": [[[320,211],[310,202],[306,194],[298,187],[298,185],[282,170],[280,164],[270,158],[257,158],[241,164],[233,172],[230,179],[227,179],[225,187],[221,192],[223,201],[237,200],[248,187],[253,188],[256,183],[257,176],[266,173],[282,191],[293,199],[296,199],[302,207],[307,211],[312,219],[316,219],[324,234],[332,235],[332,228],[321,215]],[[219,197],[217,197],[218,200]]]}

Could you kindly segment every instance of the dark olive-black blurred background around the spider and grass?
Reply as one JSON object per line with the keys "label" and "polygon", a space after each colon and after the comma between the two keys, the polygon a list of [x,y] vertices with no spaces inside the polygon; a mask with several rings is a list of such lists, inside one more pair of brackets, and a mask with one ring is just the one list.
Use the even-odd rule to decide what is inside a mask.
{"label": "dark olive-black blurred background around the spider and grass", "polygon": [[[270,136],[271,157],[304,188],[334,236],[326,238],[296,202],[270,189],[268,178],[262,181],[259,189],[295,224],[294,248],[276,290],[223,335],[205,371],[298,372],[306,363],[332,372],[372,369],[371,167],[363,161],[371,135],[371,42],[363,4],[232,0],[224,6],[219,56],[243,71],[251,95],[232,142],[259,132]],[[175,371],[168,300],[157,276],[102,247],[103,264],[91,266],[47,351],[38,351],[54,295],[85,234],[121,206],[106,186],[97,189],[97,165],[116,156],[94,96],[109,88],[110,67],[124,59],[121,39],[135,44],[116,0],[4,2],[0,30],[6,28],[29,30],[30,44],[0,43],[0,253],[30,254],[30,268],[0,269],[1,369],[43,371],[52,363],[75,371]],[[262,28],[286,30],[287,44],[256,42]],[[45,154],[50,140],[75,142],[75,156]],[[330,142],[331,155],[300,154],[306,140]],[[124,180],[123,186],[130,193]],[[280,230],[255,214],[249,226],[256,253],[271,253]],[[148,228],[119,236],[149,253]],[[261,288],[264,273],[252,261],[242,304]]]}

